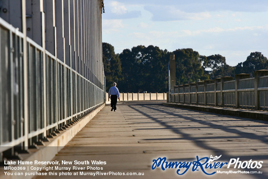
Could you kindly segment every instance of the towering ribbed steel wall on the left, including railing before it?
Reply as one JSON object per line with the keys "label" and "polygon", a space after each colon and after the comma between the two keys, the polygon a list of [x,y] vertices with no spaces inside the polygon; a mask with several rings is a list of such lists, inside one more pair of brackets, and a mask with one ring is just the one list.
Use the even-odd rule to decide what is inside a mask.
{"label": "towering ribbed steel wall on the left, including railing before it", "polygon": [[104,102],[103,11],[103,0],[0,1],[0,153],[27,150]]}

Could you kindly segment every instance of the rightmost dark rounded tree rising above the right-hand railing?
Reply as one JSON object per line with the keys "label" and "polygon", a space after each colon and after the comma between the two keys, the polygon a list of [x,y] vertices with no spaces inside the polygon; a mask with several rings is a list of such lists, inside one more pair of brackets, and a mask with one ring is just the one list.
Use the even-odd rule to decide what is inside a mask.
{"label": "rightmost dark rounded tree rising above the right-hand railing", "polygon": [[254,77],[254,71],[268,69],[268,59],[261,52],[252,52],[247,60],[235,66],[235,74],[247,73]]}

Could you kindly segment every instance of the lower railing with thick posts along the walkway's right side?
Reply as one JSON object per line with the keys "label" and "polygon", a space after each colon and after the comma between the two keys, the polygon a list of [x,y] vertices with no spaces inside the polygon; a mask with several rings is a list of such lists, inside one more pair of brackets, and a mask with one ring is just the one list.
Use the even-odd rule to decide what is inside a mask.
{"label": "lower railing with thick posts along the walkway's right side", "polygon": [[174,86],[168,102],[268,110],[268,70]]}

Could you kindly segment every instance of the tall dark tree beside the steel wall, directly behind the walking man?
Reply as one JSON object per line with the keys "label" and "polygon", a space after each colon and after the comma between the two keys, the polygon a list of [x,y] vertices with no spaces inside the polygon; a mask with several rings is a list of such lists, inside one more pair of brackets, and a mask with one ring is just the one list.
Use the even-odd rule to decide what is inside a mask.
{"label": "tall dark tree beside the steel wall, directly behind the walking man", "polygon": [[113,86],[113,82],[120,84],[123,80],[121,61],[119,55],[115,54],[114,46],[102,43],[102,60],[106,78],[106,91]]}

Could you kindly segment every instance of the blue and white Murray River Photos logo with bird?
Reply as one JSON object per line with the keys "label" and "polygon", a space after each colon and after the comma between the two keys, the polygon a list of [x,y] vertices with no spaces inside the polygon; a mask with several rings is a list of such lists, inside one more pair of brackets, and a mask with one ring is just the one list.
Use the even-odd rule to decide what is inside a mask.
{"label": "blue and white Murray River Photos logo with bird", "polygon": [[216,173],[215,169],[220,169],[223,166],[227,166],[227,168],[237,168],[237,169],[260,169],[262,167],[263,161],[240,161],[240,158],[230,159],[229,162],[220,162],[217,161],[221,158],[222,155],[215,156],[211,158],[204,157],[199,158],[196,156],[196,160],[194,161],[168,161],[166,157],[159,157],[158,159],[153,159],[152,169],[160,168],[163,171],[166,169],[176,169],[176,173],[178,175],[185,174],[189,169],[194,171],[201,170],[206,175],[213,175]]}

